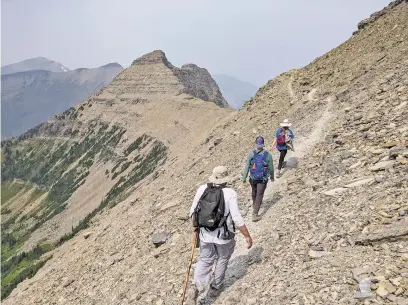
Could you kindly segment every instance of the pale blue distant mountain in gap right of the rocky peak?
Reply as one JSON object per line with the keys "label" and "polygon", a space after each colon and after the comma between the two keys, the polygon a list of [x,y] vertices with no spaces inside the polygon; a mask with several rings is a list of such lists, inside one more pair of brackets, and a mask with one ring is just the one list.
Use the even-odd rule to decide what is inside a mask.
{"label": "pale blue distant mountain in gap right of the rocky peak", "polygon": [[245,101],[253,97],[258,91],[257,86],[232,76],[217,74],[212,75],[212,77],[217,82],[228,104],[236,110],[240,109]]}

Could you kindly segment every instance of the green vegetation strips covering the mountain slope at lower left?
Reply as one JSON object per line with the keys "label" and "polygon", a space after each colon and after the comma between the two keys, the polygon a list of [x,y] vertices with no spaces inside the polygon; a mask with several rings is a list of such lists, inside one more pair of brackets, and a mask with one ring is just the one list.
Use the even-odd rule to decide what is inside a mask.
{"label": "green vegetation strips covering the mountain slope at lower left", "polygon": [[[71,112],[65,115],[72,116]],[[2,213],[11,213],[11,217],[1,224],[2,299],[7,297],[18,283],[32,277],[45,264],[49,257],[44,258],[44,253],[88,228],[95,215],[125,199],[138,182],[151,174],[157,177],[155,170],[165,162],[167,148],[161,142],[143,135],[125,149],[125,156],[135,153],[135,157],[130,160],[118,157],[114,149],[125,132],[126,130],[119,126],[92,123],[81,141],[74,138],[68,141],[58,138],[24,138],[2,142],[1,199],[2,204],[5,204],[2,206]],[[112,179],[129,168],[131,170],[120,176],[98,208],[56,243],[38,245],[32,251],[20,253],[19,249],[34,230],[64,210],[68,199],[85,183],[95,161],[106,162],[112,159],[119,160],[111,170]],[[105,174],[110,173],[107,170]],[[34,210],[16,223],[19,213],[13,215],[13,205],[8,207],[7,203],[12,202],[16,195],[28,191],[30,195],[26,196],[26,204],[47,194]],[[26,222],[28,220],[30,223]],[[32,220],[35,220],[34,225]]]}

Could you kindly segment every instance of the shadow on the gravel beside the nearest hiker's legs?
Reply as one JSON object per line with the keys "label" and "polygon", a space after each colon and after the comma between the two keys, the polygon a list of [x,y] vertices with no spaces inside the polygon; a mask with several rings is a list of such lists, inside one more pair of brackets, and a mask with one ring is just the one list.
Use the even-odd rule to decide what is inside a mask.
{"label": "shadow on the gravel beside the nearest hiker's legs", "polygon": [[208,293],[202,298],[198,304],[211,305],[213,304],[222,292],[229,287],[233,286],[236,281],[243,278],[247,273],[247,269],[250,265],[259,264],[261,262],[261,255],[263,252],[262,247],[254,247],[249,250],[248,254],[239,255],[232,259],[228,264],[228,269],[225,273],[224,288],[216,296],[209,296]]}

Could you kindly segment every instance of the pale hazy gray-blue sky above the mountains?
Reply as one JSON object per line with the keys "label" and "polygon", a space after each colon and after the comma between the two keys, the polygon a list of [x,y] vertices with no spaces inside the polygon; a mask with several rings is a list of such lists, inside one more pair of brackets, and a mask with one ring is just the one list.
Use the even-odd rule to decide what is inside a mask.
{"label": "pale hazy gray-blue sky above the mountains", "polygon": [[2,65],[44,56],[70,69],[173,65],[262,85],[348,39],[388,0],[1,0]]}

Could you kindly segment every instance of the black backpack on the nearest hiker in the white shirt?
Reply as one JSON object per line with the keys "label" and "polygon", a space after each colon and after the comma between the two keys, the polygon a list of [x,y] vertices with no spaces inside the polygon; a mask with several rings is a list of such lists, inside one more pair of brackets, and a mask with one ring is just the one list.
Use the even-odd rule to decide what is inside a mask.
{"label": "black backpack on the nearest hiker in the white shirt", "polygon": [[226,226],[228,215],[225,213],[224,193],[222,189],[225,186],[207,184],[207,188],[198,201],[194,210],[194,226],[214,231],[222,226]]}

